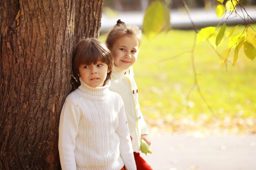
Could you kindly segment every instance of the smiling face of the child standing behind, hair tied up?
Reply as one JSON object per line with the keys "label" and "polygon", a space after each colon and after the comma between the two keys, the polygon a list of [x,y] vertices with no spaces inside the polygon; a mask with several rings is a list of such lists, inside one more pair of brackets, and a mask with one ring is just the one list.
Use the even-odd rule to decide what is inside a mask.
{"label": "smiling face of the child standing behind, hair tied up", "polygon": [[128,35],[116,40],[111,52],[117,67],[126,70],[137,60],[139,42]]}

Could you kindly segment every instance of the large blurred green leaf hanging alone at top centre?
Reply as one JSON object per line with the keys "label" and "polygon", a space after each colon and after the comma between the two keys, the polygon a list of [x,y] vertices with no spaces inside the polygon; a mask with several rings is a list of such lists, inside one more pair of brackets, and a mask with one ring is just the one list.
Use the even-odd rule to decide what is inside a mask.
{"label": "large blurred green leaf hanging alone at top centre", "polygon": [[164,25],[168,26],[169,18],[166,18],[166,7],[162,1],[156,0],[150,3],[146,9],[143,20],[143,31],[148,38],[153,38],[160,33]]}

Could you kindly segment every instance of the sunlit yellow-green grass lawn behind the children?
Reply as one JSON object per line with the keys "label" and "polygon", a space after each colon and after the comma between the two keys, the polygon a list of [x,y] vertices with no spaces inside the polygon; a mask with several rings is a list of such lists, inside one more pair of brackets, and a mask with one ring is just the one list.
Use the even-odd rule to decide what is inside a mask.
{"label": "sunlit yellow-green grass lawn behind the children", "polygon": [[[173,121],[182,123],[182,119],[193,122],[203,119],[200,126],[216,124],[216,120],[218,126],[226,126],[225,121],[229,119],[229,127],[241,124],[238,128],[242,131],[251,120],[249,126],[253,127],[256,124],[256,61],[247,58],[242,49],[234,66],[228,63],[221,67],[220,58],[207,42],[197,44],[194,55],[198,84],[213,113],[196,88],[187,98],[194,85],[194,75],[191,53],[182,52],[191,51],[194,35],[194,31],[171,30],[153,40],[143,38],[133,67],[145,119],[153,126],[161,122],[172,124],[173,131]],[[106,36],[100,39],[104,41]],[[224,41],[218,51],[225,46]],[[173,56],[176,57],[171,59]],[[233,56],[234,53],[229,56],[231,63]],[[177,126],[179,129],[181,125]],[[254,130],[250,132],[256,132]]]}

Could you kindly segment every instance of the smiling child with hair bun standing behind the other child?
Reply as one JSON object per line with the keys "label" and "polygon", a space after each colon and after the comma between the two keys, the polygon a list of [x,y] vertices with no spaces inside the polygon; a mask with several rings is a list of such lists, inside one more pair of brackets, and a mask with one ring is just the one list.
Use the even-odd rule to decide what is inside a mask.
{"label": "smiling child with hair bun standing behind the other child", "polygon": [[150,140],[139,108],[138,90],[132,72],[132,64],[137,60],[141,44],[141,30],[118,20],[108,33],[106,44],[114,56],[115,64],[110,90],[119,93],[124,101],[137,170],[152,170],[139,156],[141,140],[148,145]]}

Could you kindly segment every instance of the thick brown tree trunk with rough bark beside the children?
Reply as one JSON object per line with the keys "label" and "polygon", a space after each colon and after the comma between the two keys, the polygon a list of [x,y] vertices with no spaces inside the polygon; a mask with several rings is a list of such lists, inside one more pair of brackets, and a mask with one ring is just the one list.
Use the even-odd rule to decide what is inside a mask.
{"label": "thick brown tree trunk with rough bark beside the children", "polygon": [[[0,170],[60,169],[58,123],[73,43],[98,36],[103,3],[76,1],[0,3]],[[74,31],[75,3],[86,9],[77,15],[83,30]]]}

